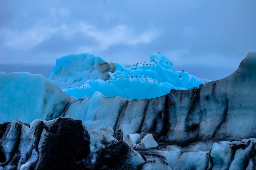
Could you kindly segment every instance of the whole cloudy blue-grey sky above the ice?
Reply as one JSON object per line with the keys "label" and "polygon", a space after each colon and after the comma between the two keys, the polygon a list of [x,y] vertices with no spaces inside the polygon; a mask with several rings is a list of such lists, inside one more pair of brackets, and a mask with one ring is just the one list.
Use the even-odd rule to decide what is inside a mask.
{"label": "whole cloudy blue-grey sky above the ice", "polygon": [[161,51],[174,68],[224,78],[256,51],[255,7],[255,0],[0,1],[0,71],[54,66],[84,52],[134,64]]}

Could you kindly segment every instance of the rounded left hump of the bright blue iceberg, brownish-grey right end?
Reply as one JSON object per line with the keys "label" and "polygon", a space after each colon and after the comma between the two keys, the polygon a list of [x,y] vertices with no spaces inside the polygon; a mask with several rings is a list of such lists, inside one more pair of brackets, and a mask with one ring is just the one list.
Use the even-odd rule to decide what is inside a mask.
{"label": "rounded left hump of the bright blue iceberg, brownish-grey right end", "polygon": [[95,80],[96,77],[108,80],[108,73],[115,70],[114,63],[109,64],[98,56],[89,53],[70,54],[56,60],[48,79],[60,89],[68,89],[80,87],[87,80]]}

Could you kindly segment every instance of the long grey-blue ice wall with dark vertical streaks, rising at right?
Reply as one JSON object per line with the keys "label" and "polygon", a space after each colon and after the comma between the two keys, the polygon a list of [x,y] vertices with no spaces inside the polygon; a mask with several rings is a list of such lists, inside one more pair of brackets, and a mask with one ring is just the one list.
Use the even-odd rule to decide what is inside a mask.
{"label": "long grey-blue ice wall with dark vertical streaks, rising at right", "polygon": [[[107,122],[104,126],[115,132],[122,129],[124,136],[138,133],[143,138],[150,133],[166,142],[254,138],[255,82],[256,52],[249,52],[232,75],[200,88],[173,89],[150,100],[126,101],[96,93],[95,98],[73,102],[66,115],[81,119],[89,127],[103,128],[100,122]],[[97,100],[100,104],[92,106]],[[87,109],[89,104],[91,109]]]}

